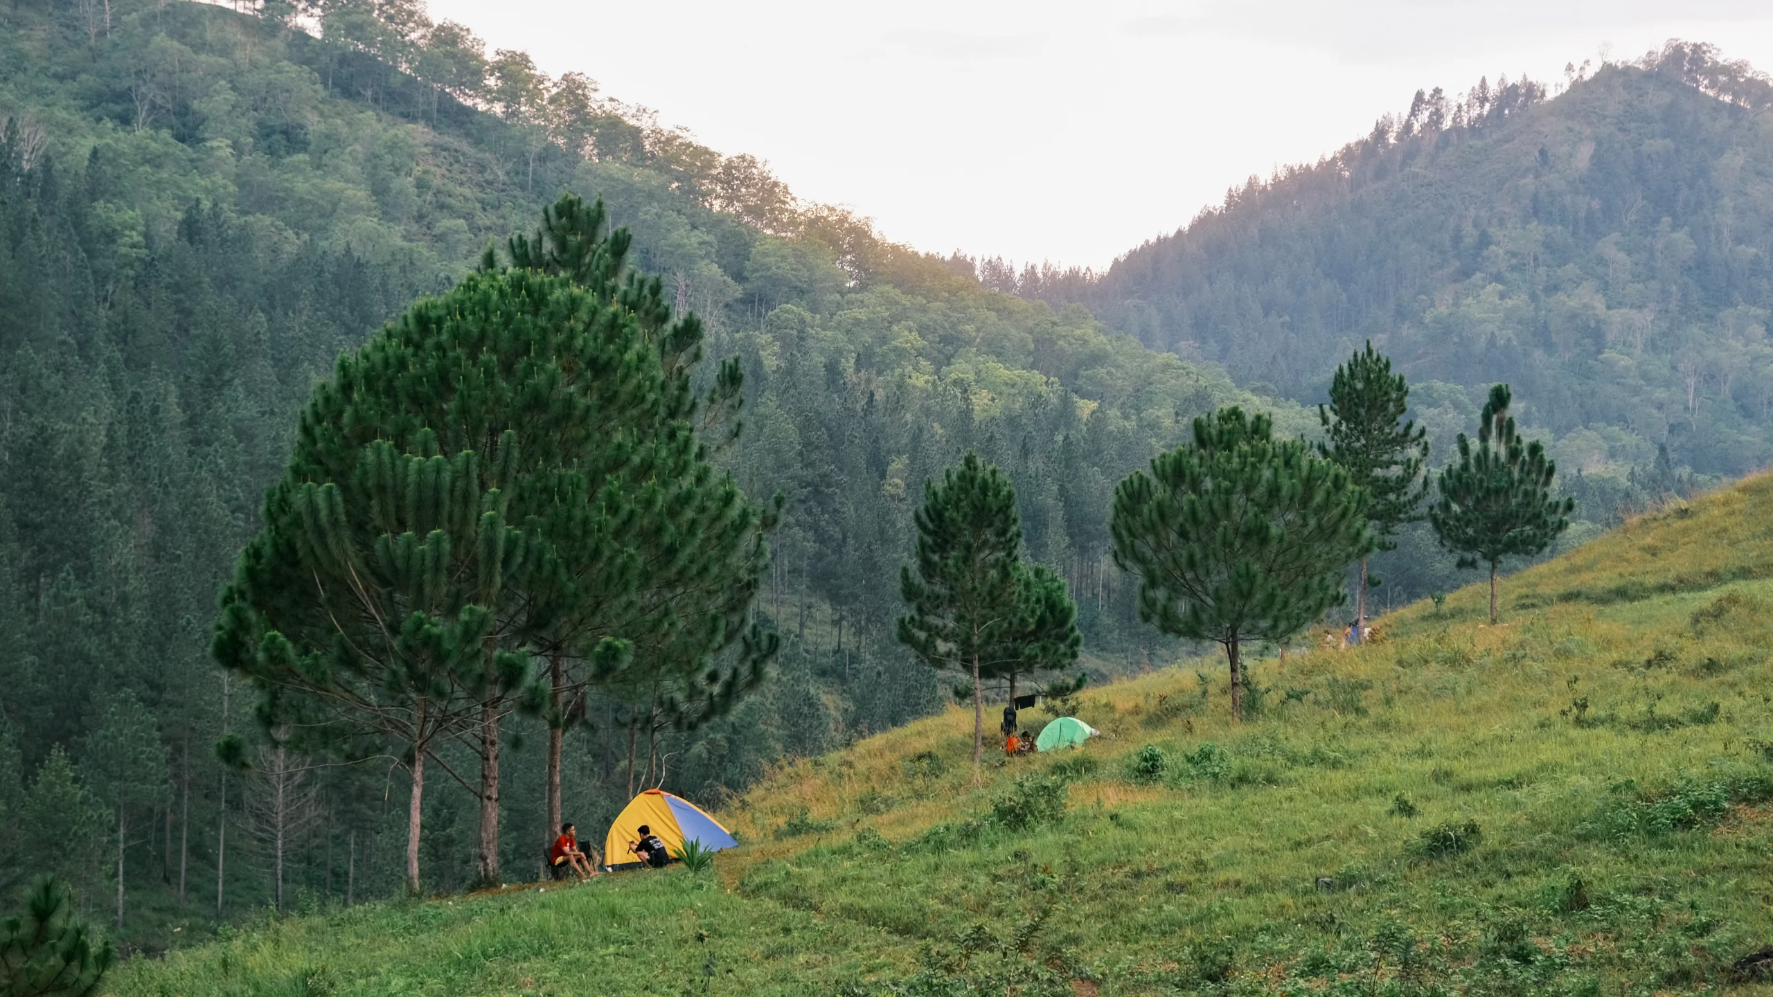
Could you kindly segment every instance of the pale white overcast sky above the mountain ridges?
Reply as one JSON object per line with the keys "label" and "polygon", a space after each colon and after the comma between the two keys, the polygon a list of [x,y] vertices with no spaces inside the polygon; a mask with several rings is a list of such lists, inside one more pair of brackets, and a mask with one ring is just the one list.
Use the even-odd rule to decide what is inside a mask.
{"label": "pale white overcast sky above the mountain ridges", "polygon": [[[1488,75],[1668,37],[1773,69],[1766,0],[431,0],[920,250],[1105,266],[1252,172]],[[589,193],[589,192],[587,192]]]}

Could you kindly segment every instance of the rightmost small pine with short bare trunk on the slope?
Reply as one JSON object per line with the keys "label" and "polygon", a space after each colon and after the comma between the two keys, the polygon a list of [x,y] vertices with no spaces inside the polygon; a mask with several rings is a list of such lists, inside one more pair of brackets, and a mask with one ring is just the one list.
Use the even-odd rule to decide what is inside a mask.
{"label": "rightmost small pine with short bare trunk on the slope", "polygon": [[1489,389],[1479,415],[1477,445],[1459,433],[1459,463],[1441,472],[1440,500],[1429,523],[1441,546],[1459,553],[1459,568],[1489,564],[1489,623],[1496,623],[1496,571],[1504,557],[1532,557],[1551,546],[1576,509],[1553,498],[1557,463],[1539,440],[1523,442],[1509,415],[1509,385]]}

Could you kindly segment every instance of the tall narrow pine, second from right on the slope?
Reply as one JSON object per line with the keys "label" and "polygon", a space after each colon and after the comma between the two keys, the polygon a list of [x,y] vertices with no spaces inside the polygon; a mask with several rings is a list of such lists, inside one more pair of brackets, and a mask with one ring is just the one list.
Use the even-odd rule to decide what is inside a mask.
{"label": "tall narrow pine, second from right on the slope", "polygon": [[[1427,495],[1422,474],[1429,458],[1427,429],[1402,422],[1410,410],[1410,385],[1392,374],[1392,358],[1372,349],[1355,353],[1335,369],[1330,404],[1317,406],[1324,442],[1317,452],[1347,468],[1349,481],[1367,490],[1367,523],[1376,550],[1392,550],[1397,527],[1422,518],[1418,509]],[[1355,594],[1355,637],[1367,623],[1367,559],[1360,559]]]}

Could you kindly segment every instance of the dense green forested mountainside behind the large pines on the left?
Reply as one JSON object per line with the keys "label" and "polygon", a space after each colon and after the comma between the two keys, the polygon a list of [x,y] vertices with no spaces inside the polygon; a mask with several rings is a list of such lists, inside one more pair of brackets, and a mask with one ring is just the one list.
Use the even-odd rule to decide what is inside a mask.
{"label": "dense green forested mountainside behind the large pines on the left", "polygon": [[[0,121],[0,887],[57,871],[133,944],[399,889],[399,766],[262,740],[250,772],[218,765],[257,720],[209,658],[215,598],[339,353],[562,190],[605,197],[709,355],[739,357],[745,433],[718,459],[787,500],[773,681],[690,734],[598,704],[566,768],[587,828],[637,784],[709,798],[938,704],[890,624],[922,481],[966,449],[1012,477],[1101,669],[1168,653],[1110,568],[1113,483],[1216,404],[1316,422],[399,0],[16,0]],[[509,733],[511,869],[546,839],[539,734]],[[472,869],[475,798],[450,789],[426,797],[436,889]]]}

